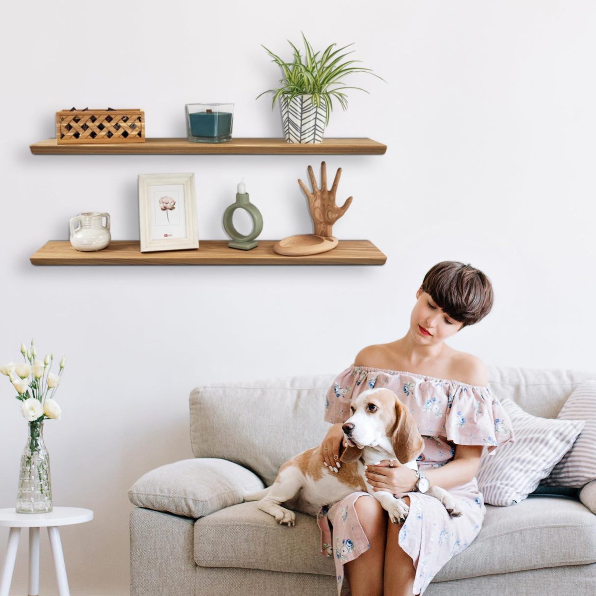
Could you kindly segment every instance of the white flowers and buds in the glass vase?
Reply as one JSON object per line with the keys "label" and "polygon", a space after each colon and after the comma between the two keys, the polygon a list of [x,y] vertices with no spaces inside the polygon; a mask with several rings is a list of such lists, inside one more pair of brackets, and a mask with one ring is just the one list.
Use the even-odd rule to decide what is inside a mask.
{"label": "white flowers and buds in the glass vase", "polygon": [[60,361],[58,374],[51,373],[54,355],[46,355],[39,361],[35,342],[31,340],[31,347],[27,349],[21,343],[21,354],[24,364],[9,362],[0,366],[0,373],[7,375],[13,387],[17,390],[17,399],[21,402],[21,412],[27,422],[40,422],[46,418],[60,418],[62,410],[54,401],[54,393],[60,383],[62,371],[66,364],[66,356]]}

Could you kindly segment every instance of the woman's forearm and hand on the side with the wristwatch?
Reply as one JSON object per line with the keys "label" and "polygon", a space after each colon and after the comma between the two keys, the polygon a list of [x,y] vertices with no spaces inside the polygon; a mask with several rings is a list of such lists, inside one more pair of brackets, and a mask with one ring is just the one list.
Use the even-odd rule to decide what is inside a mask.
{"label": "woman's forearm and hand on the side with the wristwatch", "polygon": [[[424,470],[430,486],[440,486],[446,490],[470,482],[476,476],[480,464],[482,445],[456,445],[455,456],[440,468]],[[395,466],[393,460],[393,465]],[[389,491],[394,495],[415,491],[418,477],[411,468],[398,464],[390,468],[389,460],[379,465],[369,465],[366,471],[368,483],[375,491]]]}

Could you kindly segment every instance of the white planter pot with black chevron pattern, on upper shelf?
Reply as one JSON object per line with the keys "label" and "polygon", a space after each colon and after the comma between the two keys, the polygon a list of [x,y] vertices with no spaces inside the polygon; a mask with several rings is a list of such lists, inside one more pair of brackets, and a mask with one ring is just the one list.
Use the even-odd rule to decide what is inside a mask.
{"label": "white planter pot with black chevron pattern, on upper shelf", "polygon": [[288,143],[313,144],[323,141],[325,107],[316,107],[312,95],[297,95],[288,101],[281,98],[281,125]]}

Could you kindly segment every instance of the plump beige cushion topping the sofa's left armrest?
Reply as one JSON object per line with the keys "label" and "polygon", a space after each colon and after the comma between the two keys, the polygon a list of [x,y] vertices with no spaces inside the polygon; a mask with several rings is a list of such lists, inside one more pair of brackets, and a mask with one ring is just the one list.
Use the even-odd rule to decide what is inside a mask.
{"label": "plump beige cushion topping the sofa's left armrest", "polygon": [[162,465],[141,476],[128,491],[134,505],[184,517],[203,517],[241,503],[260,491],[256,474],[228,460],[195,458]]}

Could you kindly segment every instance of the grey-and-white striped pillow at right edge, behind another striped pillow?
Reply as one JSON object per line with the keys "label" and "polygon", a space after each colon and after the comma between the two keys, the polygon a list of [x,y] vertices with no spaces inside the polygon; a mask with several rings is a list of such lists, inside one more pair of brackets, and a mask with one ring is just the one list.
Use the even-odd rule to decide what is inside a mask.
{"label": "grey-and-white striped pillow at right edge, behind another striped pillow", "polygon": [[596,479],[596,381],[585,381],[567,398],[558,420],[583,418],[583,427],[573,447],[541,484],[581,488]]}

